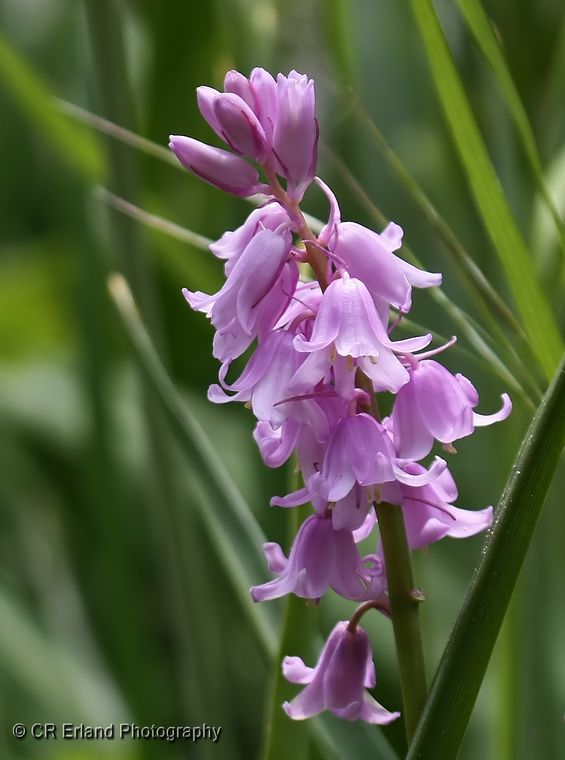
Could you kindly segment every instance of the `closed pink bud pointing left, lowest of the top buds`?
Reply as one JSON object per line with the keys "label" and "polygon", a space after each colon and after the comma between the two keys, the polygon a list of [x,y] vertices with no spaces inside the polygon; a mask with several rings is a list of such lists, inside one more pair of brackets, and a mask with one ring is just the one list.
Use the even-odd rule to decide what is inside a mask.
{"label": "closed pink bud pointing left, lowest of the top buds", "polygon": [[259,181],[257,170],[233,153],[192,137],[171,135],[169,139],[169,148],[184,168],[210,185],[243,198],[268,191]]}

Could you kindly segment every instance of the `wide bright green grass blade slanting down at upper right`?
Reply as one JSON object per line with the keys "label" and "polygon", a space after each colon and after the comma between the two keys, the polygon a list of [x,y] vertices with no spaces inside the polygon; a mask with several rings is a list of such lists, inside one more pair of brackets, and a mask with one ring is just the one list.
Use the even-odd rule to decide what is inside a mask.
{"label": "wide bright green grass blade slanting down at upper right", "polygon": [[508,278],[532,350],[549,379],[563,351],[559,329],[488,156],[434,6],[431,0],[412,0],[412,9],[477,209]]}

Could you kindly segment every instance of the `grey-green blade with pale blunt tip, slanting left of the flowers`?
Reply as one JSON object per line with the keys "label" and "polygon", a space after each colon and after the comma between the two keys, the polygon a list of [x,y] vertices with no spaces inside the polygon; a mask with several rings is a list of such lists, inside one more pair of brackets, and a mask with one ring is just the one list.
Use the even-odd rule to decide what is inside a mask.
{"label": "grey-green blade with pale blunt tip, slanting left of the flowers", "polygon": [[[278,651],[277,628],[273,608],[253,604],[248,589],[264,575],[261,544],[265,537],[253,513],[233,483],[208,436],[186,406],[167,375],[151,339],[145,330],[131,291],[120,275],[109,283],[110,293],[118,309],[127,335],[135,350],[144,374],[153,386],[163,411],[191,463],[191,489],[195,491],[201,517],[212,541],[224,554],[222,559],[234,581],[242,610],[254,623],[254,632],[263,652],[275,657]],[[213,508],[221,504],[221,509]],[[301,600],[299,600],[300,602]],[[316,642],[321,647],[321,642]],[[312,727],[316,741],[335,758],[365,760],[367,752],[383,760],[394,760],[388,742],[378,730],[336,726],[331,716],[314,719]],[[339,723],[339,721],[338,721]],[[350,730],[353,729],[353,730]]]}

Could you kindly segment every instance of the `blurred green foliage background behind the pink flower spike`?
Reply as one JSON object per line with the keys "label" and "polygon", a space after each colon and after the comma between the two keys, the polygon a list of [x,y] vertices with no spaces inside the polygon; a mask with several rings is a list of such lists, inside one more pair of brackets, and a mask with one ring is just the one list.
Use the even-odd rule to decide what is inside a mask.
{"label": "blurred green foliage background behind the pink flower spike", "polygon": [[[563,324],[558,236],[507,102],[463,15],[451,2],[436,6],[543,291]],[[490,0],[485,10],[563,212],[563,4]],[[238,560],[254,569],[252,582],[267,572],[255,557],[251,562],[241,532],[232,531],[232,507],[210,490],[209,475],[179,445],[141,379],[107,294],[110,271],[129,280],[174,384],[262,531],[283,543],[288,516],[269,509],[268,500],[285,492],[288,473],[263,466],[250,413],[206,401],[217,371],[212,332],[180,290],[215,290],[219,262],[175,239],[162,221],[148,226],[110,208],[100,188],[212,239],[238,226],[249,206],[157,156],[107,140],[61,101],[160,146],[169,133],[214,142],[197,110],[199,84],[221,87],[228,69],[247,74],[253,66],[274,74],[296,68],[316,79],[319,174],[335,189],[343,218],[376,229],[382,216],[400,223],[426,269],[444,272],[450,303],[493,335],[489,345],[523,389],[517,394],[504,383],[472,336],[461,334],[449,305],[415,294],[415,321],[460,335],[446,363],[476,384],[480,410],[498,408],[505,390],[515,402],[510,420],[461,441],[450,459],[460,506],[496,504],[545,381],[524,342],[492,308],[481,308],[454,254],[453,245],[463,246],[514,310],[405,0],[0,0],[0,25],[0,757],[257,757],[278,663],[258,640]],[[372,123],[455,244],[391,167]],[[306,208],[319,218],[326,213],[315,191]],[[565,757],[562,472],[557,479],[469,727],[465,760]],[[448,539],[416,558],[430,675],[482,541]],[[276,625],[281,609],[269,607]],[[353,607],[334,596],[319,615],[308,614],[325,634]],[[391,632],[384,620],[366,622],[376,696],[399,709]],[[222,726],[222,736],[217,744],[18,742],[10,733],[17,721],[206,722]],[[402,753],[401,727],[384,733]],[[310,752],[349,757],[317,741]],[[372,756],[388,757],[378,750]]]}

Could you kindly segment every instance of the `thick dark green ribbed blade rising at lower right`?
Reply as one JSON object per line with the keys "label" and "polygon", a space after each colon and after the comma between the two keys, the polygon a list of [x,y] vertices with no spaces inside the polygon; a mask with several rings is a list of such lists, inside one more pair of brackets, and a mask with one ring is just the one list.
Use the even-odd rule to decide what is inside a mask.
{"label": "thick dark green ribbed blade rising at lower right", "polygon": [[565,440],[565,358],[502,494],[408,760],[457,756]]}

